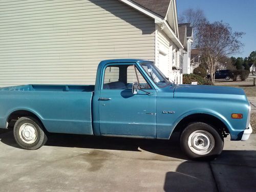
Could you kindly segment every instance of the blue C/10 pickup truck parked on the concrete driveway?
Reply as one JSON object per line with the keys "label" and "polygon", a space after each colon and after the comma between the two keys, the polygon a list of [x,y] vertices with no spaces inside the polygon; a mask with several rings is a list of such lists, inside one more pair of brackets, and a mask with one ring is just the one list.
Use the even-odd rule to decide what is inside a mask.
{"label": "blue C/10 pickup truck parked on the concrete driveway", "polygon": [[28,84],[0,89],[0,127],[13,127],[24,149],[36,150],[48,133],[170,139],[180,133],[191,159],[215,158],[224,137],[252,133],[242,89],[179,85],[147,60],[101,61],[95,86]]}

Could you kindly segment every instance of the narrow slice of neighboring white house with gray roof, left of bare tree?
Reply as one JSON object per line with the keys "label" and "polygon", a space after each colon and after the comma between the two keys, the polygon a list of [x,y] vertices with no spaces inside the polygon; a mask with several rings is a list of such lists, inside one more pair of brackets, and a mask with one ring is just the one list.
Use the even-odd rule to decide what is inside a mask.
{"label": "narrow slice of neighboring white house with gray roof, left of bare tree", "polygon": [[182,50],[182,73],[190,74],[190,52],[193,43],[193,27],[190,24],[179,24],[179,37],[184,47]]}

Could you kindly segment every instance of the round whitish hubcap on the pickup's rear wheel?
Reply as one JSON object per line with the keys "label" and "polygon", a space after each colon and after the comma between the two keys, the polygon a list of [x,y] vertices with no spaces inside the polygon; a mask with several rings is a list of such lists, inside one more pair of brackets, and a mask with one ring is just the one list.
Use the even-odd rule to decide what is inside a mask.
{"label": "round whitish hubcap on the pickup's rear wheel", "polygon": [[20,126],[18,134],[19,138],[27,144],[34,143],[38,135],[35,126],[31,123],[24,123]]}

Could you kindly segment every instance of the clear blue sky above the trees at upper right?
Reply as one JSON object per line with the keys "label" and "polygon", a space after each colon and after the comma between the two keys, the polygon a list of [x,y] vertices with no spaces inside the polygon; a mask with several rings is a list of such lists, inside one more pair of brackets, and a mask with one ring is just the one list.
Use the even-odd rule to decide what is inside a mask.
{"label": "clear blue sky above the trees at upper right", "polygon": [[233,31],[245,32],[244,48],[235,57],[247,57],[256,50],[256,0],[177,0],[180,15],[188,8],[200,8],[210,22],[228,23]]}

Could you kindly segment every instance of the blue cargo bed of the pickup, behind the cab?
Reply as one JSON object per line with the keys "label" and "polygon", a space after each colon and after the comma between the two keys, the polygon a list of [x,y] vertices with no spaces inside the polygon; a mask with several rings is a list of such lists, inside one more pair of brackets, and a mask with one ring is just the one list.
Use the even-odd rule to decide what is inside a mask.
{"label": "blue cargo bed of the pickup, behind the cab", "polygon": [[0,88],[0,128],[14,112],[37,116],[48,132],[92,135],[94,86],[27,84]]}

